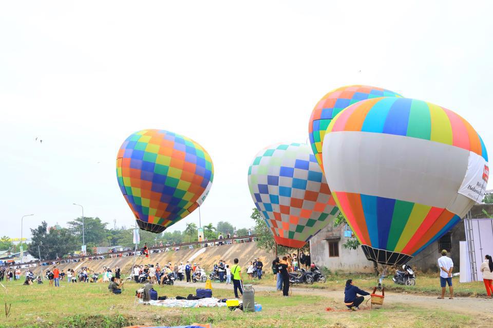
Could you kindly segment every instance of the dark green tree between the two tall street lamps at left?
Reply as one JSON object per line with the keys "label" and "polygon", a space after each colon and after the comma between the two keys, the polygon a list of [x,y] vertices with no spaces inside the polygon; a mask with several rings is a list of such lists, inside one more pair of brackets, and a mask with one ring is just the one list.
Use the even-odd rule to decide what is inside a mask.
{"label": "dark green tree between the two tall street lamps at left", "polygon": [[[81,244],[76,244],[68,229],[48,229],[48,224],[43,221],[36,229],[31,229],[32,242],[30,249],[40,247],[41,259],[62,258],[64,255],[80,250]],[[37,252],[32,256],[38,257]]]}

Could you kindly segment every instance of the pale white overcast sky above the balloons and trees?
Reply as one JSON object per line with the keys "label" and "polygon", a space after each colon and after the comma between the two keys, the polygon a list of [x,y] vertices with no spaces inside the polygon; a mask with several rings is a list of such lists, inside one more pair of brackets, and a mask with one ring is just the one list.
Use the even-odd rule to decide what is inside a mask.
{"label": "pale white overcast sky above the balloons and trees", "polygon": [[[492,154],[491,4],[2,1],[0,235],[20,237],[31,213],[25,236],[42,220],[64,226],[81,215],[73,202],[132,226],[116,155],[149,128],[210,153],[203,224],[253,226],[255,154],[307,142],[317,101],[350,84],[456,111]],[[169,229],[192,221],[197,211]]]}

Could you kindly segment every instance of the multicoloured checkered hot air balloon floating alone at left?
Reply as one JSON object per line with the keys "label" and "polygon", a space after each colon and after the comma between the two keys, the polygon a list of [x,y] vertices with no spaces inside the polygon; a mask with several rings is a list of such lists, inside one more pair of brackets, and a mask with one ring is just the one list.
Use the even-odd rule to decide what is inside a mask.
{"label": "multicoloured checkered hot air balloon floating alone at left", "polygon": [[211,156],[192,139],[142,130],[120,147],[117,178],[139,227],[160,233],[202,204],[214,167]]}

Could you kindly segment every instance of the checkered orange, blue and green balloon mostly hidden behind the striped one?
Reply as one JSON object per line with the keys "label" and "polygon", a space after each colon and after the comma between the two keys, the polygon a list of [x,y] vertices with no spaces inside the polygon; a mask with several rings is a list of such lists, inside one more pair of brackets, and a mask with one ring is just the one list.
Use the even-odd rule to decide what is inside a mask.
{"label": "checkered orange, blue and green balloon mostly hidden behind the striped one", "polygon": [[322,163],[322,145],[324,143],[325,131],[327,130],[330,121],[340,111],[358,101],[379,97],[402,96],[382,88],[355,85],[332,90],[318,101],[310,116],[308,136],[312,151],[315,154],[315,158],[322,168],[322,171],[324,171],[324,165]]}

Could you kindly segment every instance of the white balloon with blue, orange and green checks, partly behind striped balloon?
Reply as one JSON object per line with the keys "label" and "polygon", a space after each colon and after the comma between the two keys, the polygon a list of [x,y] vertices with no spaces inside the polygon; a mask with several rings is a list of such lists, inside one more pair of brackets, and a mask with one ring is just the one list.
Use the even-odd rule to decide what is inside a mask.
{"label": "white balloon with blue, orange and green checks, partly behind striped balloon", "polygon": [[248,186],[280,245],[303,247],[339,213],[305,144],[278,144],[260,151],[248,170]]}

